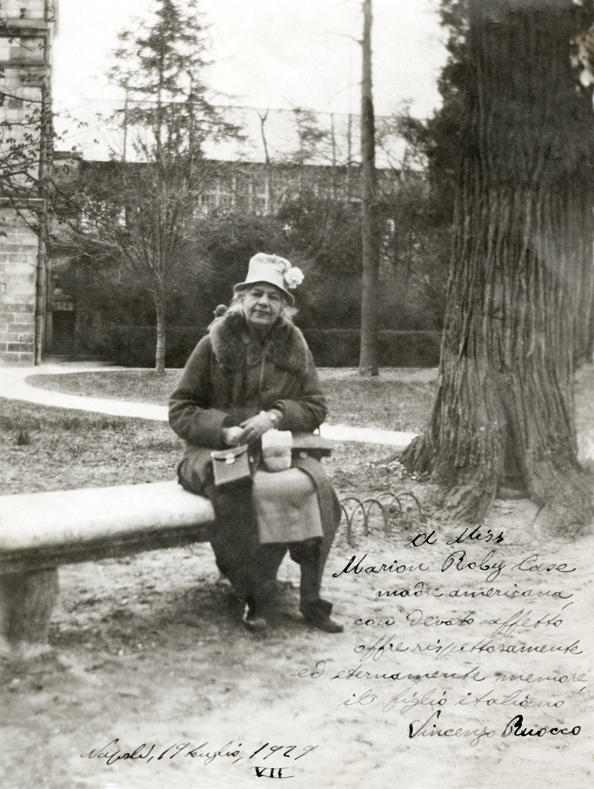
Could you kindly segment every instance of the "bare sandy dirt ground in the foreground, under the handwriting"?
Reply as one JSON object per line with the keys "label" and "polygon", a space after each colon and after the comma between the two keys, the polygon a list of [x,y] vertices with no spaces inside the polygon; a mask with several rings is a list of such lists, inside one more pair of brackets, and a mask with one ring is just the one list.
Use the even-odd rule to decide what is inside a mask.
{"label": "bare sandy dirt ground in the foreground, under the handwriting", "polygon": [[[337,447],[342,495],[426,495],[386,454]],[[271,768],[315,789],[592,786],[594,538],[544,540],[532,503],[496,502],[490,541],[447,545],[465,527],[409,503],[388,535],[376,508],[365,536],[359,510],[352,546],[343,522],[323,579],[338,635],[299,621],[290,559],[263,635],[208,544],[62,567],[54,653],[0,664],[2,789],[243,789]],[[525,731],[576,733],[502,736],[518,714]]]}

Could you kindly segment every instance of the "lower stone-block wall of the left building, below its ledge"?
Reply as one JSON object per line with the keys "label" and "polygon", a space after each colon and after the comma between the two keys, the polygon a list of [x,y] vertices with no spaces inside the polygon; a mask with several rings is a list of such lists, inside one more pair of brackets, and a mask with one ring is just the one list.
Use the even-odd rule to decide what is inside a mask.
{"label": "lower stone-block wall of the left building, below its ledge", "polygon": [[0,209],[0,365],[32,365],[38,241],[13,209]]}

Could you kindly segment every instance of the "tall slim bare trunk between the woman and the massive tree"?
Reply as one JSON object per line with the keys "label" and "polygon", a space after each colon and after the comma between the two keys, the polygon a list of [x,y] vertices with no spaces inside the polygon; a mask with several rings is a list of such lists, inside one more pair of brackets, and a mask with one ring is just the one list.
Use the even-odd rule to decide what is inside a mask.
{"label": "tall slim bare trunk between the woman and the massive tree", "polygon": [[363,3],[363,80],[361,81],[361,233],[363,294],[359,375],[376,376],[379,249],[376,238],[375,118],[372,96],[372,2]]}

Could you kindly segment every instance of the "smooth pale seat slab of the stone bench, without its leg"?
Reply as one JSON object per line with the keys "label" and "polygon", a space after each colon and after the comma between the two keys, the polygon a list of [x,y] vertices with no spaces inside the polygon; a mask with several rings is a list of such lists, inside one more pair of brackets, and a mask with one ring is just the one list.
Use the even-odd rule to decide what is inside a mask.
{"label": "smooth pale seat slab of the stone bench, without its leg", "polygon": [[0,575],[207,540],[214,518],[177,481],[0,496]]}

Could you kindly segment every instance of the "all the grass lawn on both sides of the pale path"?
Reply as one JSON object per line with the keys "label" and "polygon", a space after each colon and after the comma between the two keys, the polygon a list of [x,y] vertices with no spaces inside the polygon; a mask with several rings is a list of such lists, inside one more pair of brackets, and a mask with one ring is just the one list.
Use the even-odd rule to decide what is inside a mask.
{"label": "all the grass lawn on both sides of the pale path", "polygon": [[[165,405],[181,370],[30,376],[30,383],[100,398]],[[320,371],[330,406],[329,421],[364,427],[419,429],[428,414],[432,370],[382,371],[360,380],[356,370]],[[170,480],[183,442],[168,424],[0,399],[0,494],[91,488]],[[324,461],[343,493],[402,489],[405,471],[385,462],[391,447],[334,442]],[[413,482],[407,481],[407,484]]]}

